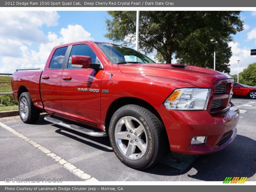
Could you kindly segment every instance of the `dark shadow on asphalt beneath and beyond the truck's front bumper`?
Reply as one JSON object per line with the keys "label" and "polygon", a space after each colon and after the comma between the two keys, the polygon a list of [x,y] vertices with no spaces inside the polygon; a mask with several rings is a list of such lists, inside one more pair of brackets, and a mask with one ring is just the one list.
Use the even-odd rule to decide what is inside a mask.
{"label": "dark shadow on asphalt beneath and beyond the truck's front bumper", "polygon": [[[204,181],[223,181],[226,177],[250,178],[256,172],[255,148],[255,140],[237,135],[227,148],[210,155],[198,156],[186,171],[159,163],[144,172],[166,176],[187,174],[190,178]],[[190,175],[192,168],[197,172]]]}

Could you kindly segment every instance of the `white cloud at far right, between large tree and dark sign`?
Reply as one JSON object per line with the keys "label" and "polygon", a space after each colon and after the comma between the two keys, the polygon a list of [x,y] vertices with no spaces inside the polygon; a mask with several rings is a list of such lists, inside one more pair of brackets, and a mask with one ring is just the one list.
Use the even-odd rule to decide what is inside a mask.
{"label": "white cloud at far right, between large tree and dark sign", "polygon": [[248,47],[240,47],[239,43],[235,42],[229,42],[228,44],[231,47],[231,51],[233,53],[232,57],[230,58],[230,74],[234,75],[237,74],[237,60],[241,60],[239,62],[239,73],[243,71],[244,68],[247,68],[247,66],[250,63],[255,62],[256,56],[251,56],[251,50]]}

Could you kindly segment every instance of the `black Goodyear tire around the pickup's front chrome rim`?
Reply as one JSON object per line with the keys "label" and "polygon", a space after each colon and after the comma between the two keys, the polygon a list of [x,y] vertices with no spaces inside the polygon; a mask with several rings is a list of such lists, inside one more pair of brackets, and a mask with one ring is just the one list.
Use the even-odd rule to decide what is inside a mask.
{"label": "black Goodyear tire around the pickup's front chrome rim", "polygon": [[[136,150],[138,151],[139,149],[141,153],[140,155],[141,157],[139,159],[128,158],[130,156],[127,157],[126,154],[124,154],[124,151],[122,152],[120,149],[122,147],[120,147],[119,143],[120,141],[123,142],[123,139],[117,142],[116,141],[117,138],[115,138],[116,129],[120,129],[118,127],[124,126],[124,128],[121,128],[121,129],[128,130],[128,128],[126,128],[126,125],[120,125],[121,124],[120,121],[122,121],[122,119],[124,118],[127,119],[127,117],[131,117],[133,119],[135,118],[136,121],[138,120],[141,123],[139,124],[139,126],[141,127],[142,125],[144,128],[144,132],[142,134],[144,135],[145,138],[147,137],[147,142],[145,144],[147,148],[145,149],[146,152],[144,151],[145,153],[144,155],[142,150],[140,151],[140,149],[137,147],[135,147],[135,149],[133,150],[133,151],[136,151]],[[130,119],[130,120],[134,121],[133,119]],[[119,124],[117,125],[118,122]],[[135,122],[133,124],[136,124]],[[129,131],[126,133],[130,134]],[[134,134],[136,133],[134,132]],[[133,136],[131,135],[129,139],[131,139],[131,137],[133,137],[134,139],[134,135]],[[134,169],[140,169],[140,170],[146,169],[156,164],[166,152],[166,147],[167,147],[166,146],[167,134],[164,129],[163,123],[148,109],[140,107],[138,105],[125,105],[119,108],[118,110],[116,110],[116,112],[111,118],[110,125],[109,125],[109,139],[110,139],[110,143],[113,148],[113,151],[118,157],[118,159],[125,165],[132,167]],[[132,142],[131,140],[127,141],[128,144],[127,144],[126,152],[128,151],[128,145],[131,144],[130,142]],[[138,140],[139,140],[139,137],[138,137]],[[132,143],[132,144],[136,146],[136,143]],[[136,158],[136,153],[135,153],[135,158]]]}

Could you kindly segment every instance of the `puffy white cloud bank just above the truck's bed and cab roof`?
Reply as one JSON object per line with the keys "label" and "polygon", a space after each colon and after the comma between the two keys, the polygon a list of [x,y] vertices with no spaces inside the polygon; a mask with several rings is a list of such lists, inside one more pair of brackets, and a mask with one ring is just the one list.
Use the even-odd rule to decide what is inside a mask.
{"label": "puffy white cloud bank just above the truck's bed and cab roof", "polygon": [[39,51],[30,50],[25,45],[19,46],[21,52],[19,57],[4,56],[1,58],[0,68],[2,73],[13,72],[17,68],[42,68],[44,69],[45,62],[56,45],[70,43],[74,41],[93,40],[91,34],[87,32],[81,25],[68,25],[67,28],[62,28],[60,37],[56,33],[48,32],[46,43],[39,45]]}

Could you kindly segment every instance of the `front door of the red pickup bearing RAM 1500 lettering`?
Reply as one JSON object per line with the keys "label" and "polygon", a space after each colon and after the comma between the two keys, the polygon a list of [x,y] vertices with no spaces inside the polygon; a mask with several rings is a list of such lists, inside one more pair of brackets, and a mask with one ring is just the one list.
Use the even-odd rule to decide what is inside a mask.
{"label": "front door of the red pickup bearing RAM 1500 lettering", "polygon": [[100,123],[100,86],[104,70],[73,68],[72,55],[92,58],[92,63],[101,63],[96,50],[88,43],[72,46],[67,66],[61,76],[61,106],[63,114],[96,125]]}

